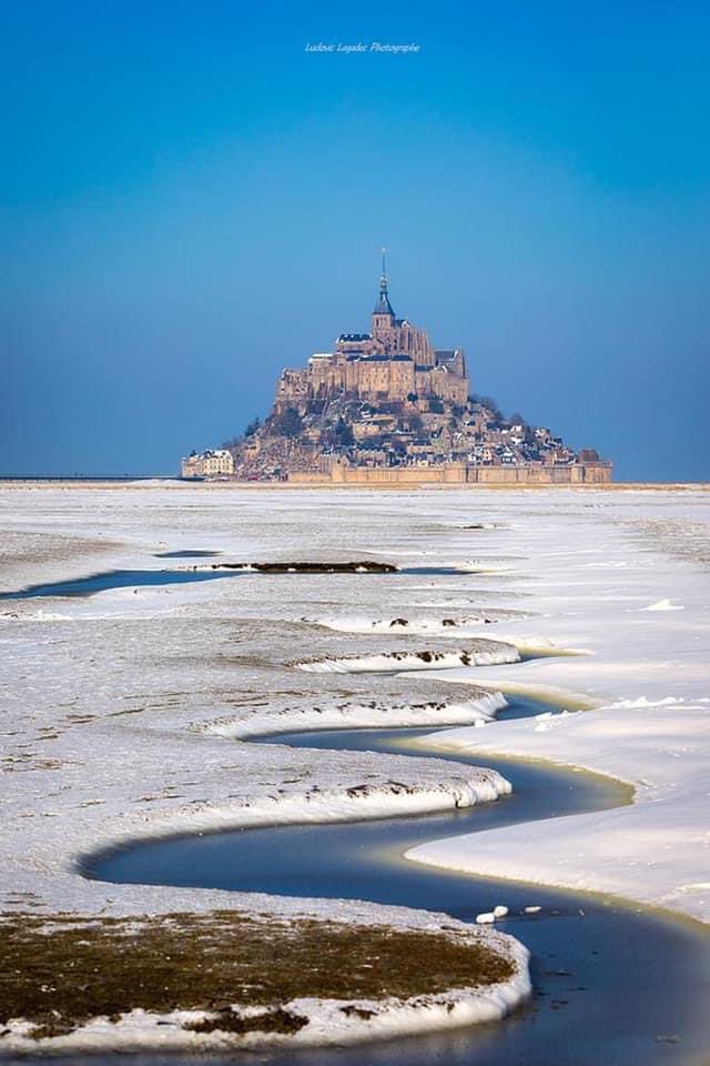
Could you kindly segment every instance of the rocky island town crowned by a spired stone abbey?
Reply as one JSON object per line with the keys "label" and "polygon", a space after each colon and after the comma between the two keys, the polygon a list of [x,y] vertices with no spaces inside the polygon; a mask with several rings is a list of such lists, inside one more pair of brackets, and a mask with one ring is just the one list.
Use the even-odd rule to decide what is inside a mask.
{"label": "rocky island town crowned by a spired stone abbey", "polygon": [[182,462],[186,479],[301,484],[602,484],[611,469],[473,393],[464,350],[395,314],[384,257],[369,332],[285,369],[263,423]]}

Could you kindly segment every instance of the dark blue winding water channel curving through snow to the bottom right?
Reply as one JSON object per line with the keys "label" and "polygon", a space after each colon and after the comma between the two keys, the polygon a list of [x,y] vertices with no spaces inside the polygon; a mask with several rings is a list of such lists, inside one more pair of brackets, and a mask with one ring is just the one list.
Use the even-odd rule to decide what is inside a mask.
{"label": "dark blue winding water channel curving through snow to the bottom right", "polygon": [[[548,710],[516,697],[503,716]],[[494,726],[495,728],[495,726]],[[534,996],[503,1023],[367,1048],[234,1053],[271,1066],[661,1066],[708,1062],[710,937],[702,926],[589,893],[540,888],[422,866],[416,844],[630,802],[610,778],[520,760],[427,751],[430,730],[281,734],[258,743],[452,758],[503,773],[514,794],[430,816],[268,827],[142,843],[95,858],[89,876],[276,895],[368,899],[445,912],[463,921],[496,904],[499,927],[532,952]],[[412,742],[417,740],[416,744]],[[540,906],[536,914],[525,907]],[[344,959],[344,966],[347,961]],[[152,1066],[163,1056],[141,1056]],[[180,1062],[197,1063],[190,1055]],[[102,1057],[102,1062],[108,1062]],[[175,1062],[174,1057],[170,1062]]]}

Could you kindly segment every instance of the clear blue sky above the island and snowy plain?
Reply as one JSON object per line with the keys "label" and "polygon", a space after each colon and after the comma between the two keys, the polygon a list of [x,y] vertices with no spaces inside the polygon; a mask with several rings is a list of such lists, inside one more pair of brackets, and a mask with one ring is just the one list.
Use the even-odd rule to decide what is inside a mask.
{"label": "clear blue sky above the island and snowy plain", "polygon": [[[0,471],[173,472],[398,314],[708,480],[707,3],[0,0]],[[306,43],[416,42],[416,54]]]}

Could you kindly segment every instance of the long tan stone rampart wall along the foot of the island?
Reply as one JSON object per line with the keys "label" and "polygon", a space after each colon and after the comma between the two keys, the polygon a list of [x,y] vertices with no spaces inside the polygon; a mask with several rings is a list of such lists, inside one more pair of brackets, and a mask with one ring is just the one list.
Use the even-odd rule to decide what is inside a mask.
{"label": "long tan stone rampart wall along the foot of the island", "polygon": [[310,485],[604,485],[611,481],[611,463],[571,466],[345,466],[329,474],[294,473],[294,484]]}

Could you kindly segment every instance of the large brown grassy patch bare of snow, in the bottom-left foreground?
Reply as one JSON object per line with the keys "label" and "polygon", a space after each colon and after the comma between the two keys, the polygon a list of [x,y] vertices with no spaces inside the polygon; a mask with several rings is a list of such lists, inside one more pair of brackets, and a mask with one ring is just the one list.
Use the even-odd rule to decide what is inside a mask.
{"label": "large brown grassy patch bare of snow, in the bottom-left foreground", "polygon": [[37,1039],[134,1009],[202,1010],[210,1017],[191,1027],[203,1033],[288,1033],[303,1024],[287,1009],[297,998],[407,999],[513,972],[509,959],[463,933],[235,911],[0,917],[0,1026],[24,1019]]}

